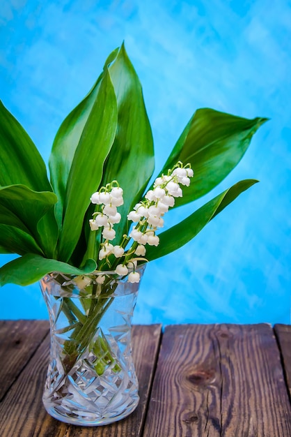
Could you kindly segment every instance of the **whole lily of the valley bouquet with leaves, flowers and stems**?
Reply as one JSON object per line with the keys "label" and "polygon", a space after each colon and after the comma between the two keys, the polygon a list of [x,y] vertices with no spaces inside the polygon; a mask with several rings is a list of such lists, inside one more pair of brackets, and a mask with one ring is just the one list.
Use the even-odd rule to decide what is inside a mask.
{"label": "whole lily of the valley bouquet with leaves, flowers and stems", "polygon": [[[58,311],[51,304],[50,311],[63,311],[71,324],[62,332],[63,371],[72,372],[91,345],[87,361],[97,375],[109,368],[119,374],[121,358],[104,333],[96,334],[116,284],[139,283],[141,265],[189,242],[257,182],[238,182],[163,231],[168,209],[217,186],[264,121],[197,110],[149,186],[152,131],[124,46],[109,55],[91,91],[58,129],[50,179],[29,135],[0,105],[0,251],[20,255],[1,267],[0,283],[26,286],[42,278],[45,288],[52,279],[58,283],[61,292],[53,302],[61,304]],[[76,288],[78,305],[70,299]]]}

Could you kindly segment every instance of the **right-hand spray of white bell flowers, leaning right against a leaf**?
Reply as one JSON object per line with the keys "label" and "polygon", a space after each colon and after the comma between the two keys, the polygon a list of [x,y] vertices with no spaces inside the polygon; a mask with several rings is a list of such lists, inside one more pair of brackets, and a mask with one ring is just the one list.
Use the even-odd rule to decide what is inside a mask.
{"label": "right-hand spray of white bell flowers, leaning right against a leaf", "polygon": [[[136,223],[129,234],[129,237],[138,243],[136,255],[146,255],[146,244],[158,246],[159,237],[155,235],[157,228],[164,226],[164,214],[169,207],[175,205],[175,198],[182,197],[180,184],[189,186],[190,177],[194,172],[191,168],[182,167],[178,163],[174,170],[169,170],[168,175],[157,177],[153,190],[146,193],[146,200],[137,203],[134,210],[127,215],[128,220]],[[181,165],[181,166],[180,166]]]}

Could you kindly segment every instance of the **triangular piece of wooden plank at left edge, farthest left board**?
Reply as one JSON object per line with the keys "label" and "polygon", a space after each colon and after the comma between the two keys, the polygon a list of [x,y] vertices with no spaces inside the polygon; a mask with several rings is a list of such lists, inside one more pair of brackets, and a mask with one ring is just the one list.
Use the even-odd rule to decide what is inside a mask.
{"label": "triangular piece of wooden plank at left edge, farthest left board", "polygon": [[48,332],[47,320],[0,320],[0,400]]}

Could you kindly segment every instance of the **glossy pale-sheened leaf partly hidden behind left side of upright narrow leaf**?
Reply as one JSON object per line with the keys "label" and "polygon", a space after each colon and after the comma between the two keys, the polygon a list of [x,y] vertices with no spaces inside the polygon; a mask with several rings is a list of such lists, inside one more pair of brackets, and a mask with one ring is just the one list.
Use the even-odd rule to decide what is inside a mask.
{"label": "glossy pale-sheened leaf partly hidden behind left side of upright narrow leaf", "polygon": [[[118,49],[114,50],[105,62],[104,68],[115,59]],[[63,218],[63,203],[65,201],[65,189],[68,182],[68,176],[74,152],[77,149],[79,140],[84,131],[84,127],[88,120],[91,110],[98,95],[100,82],[104,77],[104,73],[98,77],[93,88],[79,105],[77,105],[72,112],[65,118],[61,124],[54,144],[52,147],[52,154],[49,158],[49,170],[51,175],[52,186],[54,192],[58,195],[58,203],[56,205],[56,218],[61,227]]]}

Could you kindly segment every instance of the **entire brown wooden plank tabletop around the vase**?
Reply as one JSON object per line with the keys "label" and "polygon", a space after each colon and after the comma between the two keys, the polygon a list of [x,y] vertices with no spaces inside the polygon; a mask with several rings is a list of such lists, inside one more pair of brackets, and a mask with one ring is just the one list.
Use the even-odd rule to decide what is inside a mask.
{"label": "entire brown wooden plank tabletop around the vase", "polygon": [[58,422],[42,407],[45,320],[0,321],[1,437],[290,437],[291,326],[133,327],[141,401],[104,427]]}

